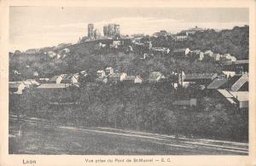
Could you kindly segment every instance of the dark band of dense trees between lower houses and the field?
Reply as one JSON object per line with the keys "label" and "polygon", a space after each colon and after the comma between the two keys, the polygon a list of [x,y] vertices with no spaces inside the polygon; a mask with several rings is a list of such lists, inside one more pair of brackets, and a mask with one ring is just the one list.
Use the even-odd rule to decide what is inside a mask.
{"label": "dark band of dense trees between lower houses and the field", "polygon": [[[247,142],[247,116],[224,106],[222,100],[201,97],[195,108],[172,106],[179,97],[193,97],[188,91],[177,94],[168,84],[111,87],[84,86],[76,104],[49,105],[30,91],[10,96],[10,112],[28,117],[47,118],[63,124],[84,127],[136,129],[160,134],[194,135],[212,139]],[[186,96],[186,94],[188,94]],[[52,96],[55,98],[57,96]]]}

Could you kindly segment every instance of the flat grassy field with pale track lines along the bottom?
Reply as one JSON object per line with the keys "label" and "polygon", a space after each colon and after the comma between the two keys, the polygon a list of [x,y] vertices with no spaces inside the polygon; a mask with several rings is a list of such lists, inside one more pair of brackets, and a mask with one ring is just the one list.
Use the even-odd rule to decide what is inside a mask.
{"label": "flat grassy field with pale track lines along the bottom", "polygon": [[22,135],[10,120],[9,153],[69,155],[247,155],[247,144],[221,140],[189,139],[132,130],[74,128],[26,120]]}

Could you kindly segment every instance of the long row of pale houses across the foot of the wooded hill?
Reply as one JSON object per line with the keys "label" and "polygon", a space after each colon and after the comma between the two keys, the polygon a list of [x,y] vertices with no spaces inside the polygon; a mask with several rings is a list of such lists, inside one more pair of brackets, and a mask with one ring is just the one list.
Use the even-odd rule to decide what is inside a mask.
{"label": "long row of pale houses across the foot of the wooded hill", "polygon": [[[228,64],[244,66],[244,63]],[[241,69],[241,67],[238,67]],[[113,67],[108,66],[103,70],[98,70],[95,74],[93,82],[96,84],[108,84],[115,86],[122,83],[124,85],[136,85],[143,83],[167,83],[173,89],[193,89],[199,90],[199,94],[203,96],[210,95],[214,98],[221,99],[224,104],[234,106],[239,110],[248,108],[248,72],[236,71],[234,75],[230,75],[229,71],[220,73],[184,73],[172,72],[171,75],[165,76],[161,72],[150,72],[148,77],[139,75],[129,75],[125,72],[114,71]],[[61,89],[79,89],[80,78],[85,80],[88,73],[85,71],[74,74],[61,74],[51,78],[38,78],[38,80],[27,79],[23,82],[9,82],[10,94],[23,94],[26,89],[35,89],[38,92],[47,92],[51,95],[54,92],[60,92]],[[91,83],[91,80],[86,83]],[[197,87],[197,88],[195,88]],[[48,97],[49,98],[49,97]],[[198,106],[200,97],[190,98],[187,100],[176,100],[172,103],[182,109]]]}

